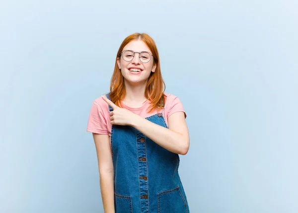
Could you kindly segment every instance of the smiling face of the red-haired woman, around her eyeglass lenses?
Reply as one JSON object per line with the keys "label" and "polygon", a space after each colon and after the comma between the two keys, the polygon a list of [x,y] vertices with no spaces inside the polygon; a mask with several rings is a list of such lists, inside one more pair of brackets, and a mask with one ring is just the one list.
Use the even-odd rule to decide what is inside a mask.
{"label": "smiling face of the red-haired woman, around her eyeglass lenses", "polygon": [[[147,51],[150,54],[149,47],[141,40],[129,42],[122,51],[132,50],[133,52]],[[156,65],[153,65],[154,59],[147,63],[143,63],[139,58],[140,54],[135,53],[135,57],[131,61],[125,61],[122,56],[117,58],[117,64],[126,82],[131,84],[146,83],[151,72],[155,72]]]}

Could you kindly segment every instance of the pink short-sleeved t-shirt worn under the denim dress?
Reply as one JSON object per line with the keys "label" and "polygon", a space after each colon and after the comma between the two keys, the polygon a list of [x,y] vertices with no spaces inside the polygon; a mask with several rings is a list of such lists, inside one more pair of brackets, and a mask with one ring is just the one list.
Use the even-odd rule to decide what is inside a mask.
{"label": "pink short-sleeved t-shirt worn under the denim dress", "polygon": [[[164,108],[161,108],[159,112],[162,113],[166,124],[168,125],[168,117],[177,111],[183,111],[186,118],[186,113],[180,100],[176,96],[171,94],[164,93],[164,95],[165,105]],[[157,113],[157,110],[154,110],[150,113],[147,112],[147,109],[150,106],[150,102],[148,100],[143,104],[143,106],[138,108],[126,106],[123,102],[122,106],[144,118]],[[101,97],[99,97],[93,102],[93,105],[91,106],[91,111],[87,123],[87,131],[97,134],[108,134],[109,136],[111,136],[111,130],[112,124],[110,122],[109,106]]]}

